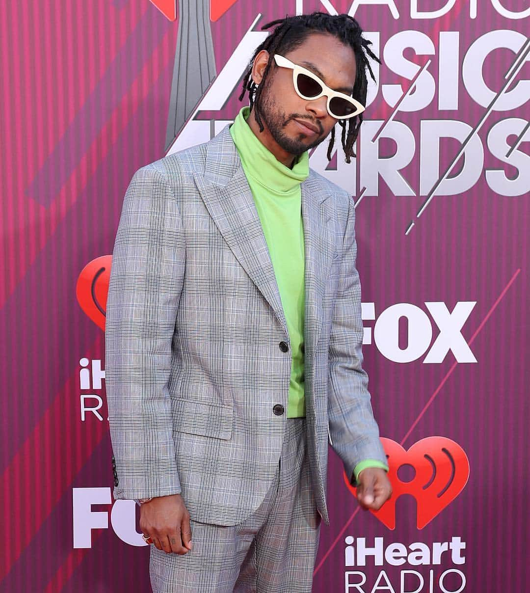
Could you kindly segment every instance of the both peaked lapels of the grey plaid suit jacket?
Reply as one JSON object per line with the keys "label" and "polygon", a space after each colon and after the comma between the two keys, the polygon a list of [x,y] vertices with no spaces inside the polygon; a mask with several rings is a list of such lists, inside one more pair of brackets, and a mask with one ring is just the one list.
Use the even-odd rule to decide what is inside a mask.
{"label": "both peaked lapels of the grey plaid suit jacket", "polygon": [[[208,142],[207,147],[205,175],[194,174],[197,189],[234,256],[289,335],[263,227],[229,125]],[[321,303],[334,250],[331,213],[326,204],[328,196],[310,170],[309,177],[301,184],[306,358],[308,354],[311,357],[317,343]]]}

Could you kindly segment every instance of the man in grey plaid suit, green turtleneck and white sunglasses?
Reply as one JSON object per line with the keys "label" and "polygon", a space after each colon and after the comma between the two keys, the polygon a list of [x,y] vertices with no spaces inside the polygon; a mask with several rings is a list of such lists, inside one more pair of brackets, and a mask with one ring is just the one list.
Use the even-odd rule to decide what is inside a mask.
{"label": "man in grey plaid suit, green turtleneck and white sunglasses", "polygon": [[141,503],[155,592],[311,591],[328,437],[365,508],[391,493],[352,199],[308,166],[337,122],[349,162],[373,54],[347,15],[272,24],[244,78],[250,106],[136,171],[117,231],[114,498]]}

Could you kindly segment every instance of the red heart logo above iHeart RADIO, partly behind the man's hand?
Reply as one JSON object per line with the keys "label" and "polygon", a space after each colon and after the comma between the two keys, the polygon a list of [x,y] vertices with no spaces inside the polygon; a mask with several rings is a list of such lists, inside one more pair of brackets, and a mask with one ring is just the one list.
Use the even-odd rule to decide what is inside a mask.
{"label": "red heart logo above iHeart RADIO, partly behind the man's hand", "polygon": [[[408,494],[416,499],[416,525],[418,529],[423,529],[464,489],[470,476],[467,455],[458,443],[443,436],[424,438],[408,451],[391,439],[382,438],[381,442],[388,458],[392,496],[379,511],[371,512],[389,529],[395,529],[396,500]],[[411,480],[404,481],[398,477],[398,470],[403,466],[413,468],[414,477]],[[356,496],[357,489],[350,484],[346,473],[344,481]]]}

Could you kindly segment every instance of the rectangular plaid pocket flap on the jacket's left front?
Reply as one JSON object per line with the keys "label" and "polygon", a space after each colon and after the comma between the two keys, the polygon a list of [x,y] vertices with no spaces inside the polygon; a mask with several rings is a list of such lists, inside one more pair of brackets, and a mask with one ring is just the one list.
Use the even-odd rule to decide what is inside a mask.
{"label": "rectangular plaid pocket flap on the jacket's left front", "polygon": [[176,431],[225,440],[232,436],[231,406],[175,397],[173,408]]}

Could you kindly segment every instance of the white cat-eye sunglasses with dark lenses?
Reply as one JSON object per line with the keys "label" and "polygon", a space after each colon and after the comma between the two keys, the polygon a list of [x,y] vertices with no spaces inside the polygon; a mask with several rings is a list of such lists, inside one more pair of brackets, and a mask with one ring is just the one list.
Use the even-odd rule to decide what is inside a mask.
{"label": "white cat-eye sunglasses with dark lenses", "polygon": [[334,91],[333,88],[325,85],[316,74],[280,56],[279,53],[274,54],[274,60],[278,66],[292,69],[293,85],[296,93],[302,99],[314,100],[325,95],[328,100],[328,113],[335,119],[348,119],[365,110],[365,107],[350,95]]}

